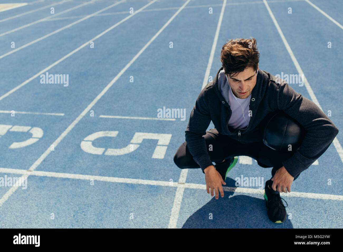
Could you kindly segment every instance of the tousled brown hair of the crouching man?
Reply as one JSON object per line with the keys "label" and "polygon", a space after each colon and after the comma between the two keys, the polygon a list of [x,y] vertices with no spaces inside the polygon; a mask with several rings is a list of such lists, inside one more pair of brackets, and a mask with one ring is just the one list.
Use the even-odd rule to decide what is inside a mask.
{"label": "tousled brown hair of the crouching man", "polygon": [[256,39],[236,38],[229,40],[222,48],[220,61],[225,74],[230,77],[252,67],[255,71],[258,67],[260,53],[257,50]]}

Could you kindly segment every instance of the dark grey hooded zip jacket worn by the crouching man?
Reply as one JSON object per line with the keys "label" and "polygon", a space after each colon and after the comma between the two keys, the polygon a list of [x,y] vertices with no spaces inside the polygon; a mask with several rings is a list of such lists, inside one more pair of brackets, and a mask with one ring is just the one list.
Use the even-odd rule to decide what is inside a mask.
{"label": "dark grey hooded zip jacket worn by the crouching man", "polygon": [[249,110],[252,116],[249,125],[244,130],[233,129],[227,125],[232,111],[218,88],[221,70],[223,67],[218,70],[213,82],[209,82],[200,92],[185,131],[189,152],[202,171],[213,165],[202,137],[211,120],[220,134],[241,143],[252,143],[261,141],[261,121],[273,111],[284,111],[305,128],[305,137],[299,149],[282,162],[293,177],[314,163],[338,134],[338,128],[314,102],[295,92],[284,80],[260,69],[251,92]]}

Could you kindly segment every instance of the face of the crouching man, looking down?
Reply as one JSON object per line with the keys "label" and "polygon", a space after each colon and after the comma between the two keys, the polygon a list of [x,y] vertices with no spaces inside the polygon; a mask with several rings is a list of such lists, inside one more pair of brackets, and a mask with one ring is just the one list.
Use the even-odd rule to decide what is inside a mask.
{"label": "face of the crouching man, looking down", "polygon": [[[258,67],[257,67],[258,70]],[[243,72],[239,72],[235,76],[229,77],[227,80],[232,89],[232,93],[239,99],[248,98],[252,89],[256,85],[257,71],[252,67],[246,68]],[[244,93],[245,92],[245,93]]]}

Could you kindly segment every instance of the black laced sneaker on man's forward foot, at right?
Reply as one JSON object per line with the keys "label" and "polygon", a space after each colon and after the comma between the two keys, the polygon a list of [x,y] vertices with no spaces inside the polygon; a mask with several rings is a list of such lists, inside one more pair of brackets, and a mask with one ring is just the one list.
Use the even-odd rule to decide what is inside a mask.
{"label": "black laced sneaker on man's forward foot, at right", "polygon": [[273,189],[269,189],[268,184],[269,184],[269,180],[265,182],[265,188],[264,188],[264,199],[267,201],[265,205],[268,208],[268,212],[267,212],[268,217],[274,223],[283,223],[287,218],[285,206],[283,205],[281,201],[284,199],[280,197],[280,192],[276,191],[277,193],[275,193]]}

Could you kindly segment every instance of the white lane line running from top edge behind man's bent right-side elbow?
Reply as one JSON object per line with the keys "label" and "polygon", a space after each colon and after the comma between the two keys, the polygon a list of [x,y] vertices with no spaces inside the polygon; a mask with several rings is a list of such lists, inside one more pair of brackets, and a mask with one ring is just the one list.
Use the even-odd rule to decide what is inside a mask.
{"label": "white lane line running from top edge behind man's bent right-side elbow", "polygon": [[[300,67],[300,65],[299,65],[299,63],[298,63],[298,61],[297,61],[297,59],[295,58],[294,53],[293,53],[291,47],[289,46],[289,44],[288,44],[288,42],[287,42],[285,36],[283,35],[283,32],[281,31],[281,28],[280,28],[279,24],[277,23],[277,21],[276,21],[276,19],[275,19],[275,16],[273,15],[273,12],[272,12],[271,9],[269,8],[269,5],[268,5],[267,1],[266,1],[266,0],[263,0],[263,2],[264,2],[264,5],[265,5],[265,7],[267,8],[267,10],[268,10],[268,12],[269,12],[270,17],[271,17],[272,20],[273,20],[273,23],[274,23],[274,25],[275,25],[275,27],[276,27],[276,29],[277,29],[277,32],[279,32],[279,35],[280,35],[280,37],[281,37],[281,39],[282,39],[282,41],[283,41],[283,44],[285,45],[285,47],[286,47],[286,49],[287,49],[287,51],[288,51],[289,56],[291,56],[291,59],[292,59],[292,61],[293,61],[293,64],[295,65],[295,67],[296,67],[298,73],[301,74],[301,76],[304,76],[303,79],[304,79],[304,84],[305,84],[305,87],[306,87],[306,89],[307,89],[307,92],[309,93],[309,95],[310,95],[312,101],[313,101],[313,102],[323,111],[323,109],[321,108],[321,106],[320,106],[320,104],[319,104],[319,102],[318,102],[318,100],[317,100],[317,97],[316,97],[315,93],[313,92],[313,90],[312,90],[310,84],[308,83],[308,81],[307,81],[307,79],[306,79],[306,77],[305,77],[305,74],[304,74],[303,70],[301,69],[301,67]],[[324,112],[324,111],[323,111],[323,112]],[[342,146],[341,146],[340,142],[338,141],[337,136],[336,136],[336,137],[334,138],[334,140],[333,140],[333,145],[335,146],[336,151],[337,151],[337,153],[338,153],[338,155],[339,155],[339,157],[341,158],[341,161],[342,161],[342,163],[343,163],[343,151],[342,151]]]}

